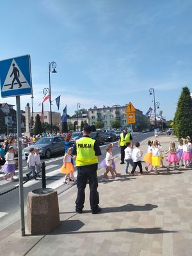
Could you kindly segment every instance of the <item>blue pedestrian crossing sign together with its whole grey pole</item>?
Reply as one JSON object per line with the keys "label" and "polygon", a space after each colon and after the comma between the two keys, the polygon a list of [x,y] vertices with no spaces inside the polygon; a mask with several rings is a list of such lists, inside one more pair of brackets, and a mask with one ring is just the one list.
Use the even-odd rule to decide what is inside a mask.
{"label": "blue pedestrian crossing sign together with its whole grey pole", "polygon": [[29,55],[0,61],[1,97],[16,97],[17,108],[17,142],[19,162],[19,204],[20,229],[25,236],[24,193],[22,177],[22,147],[20,128],[20,95],[32,94],[31,60]]}

